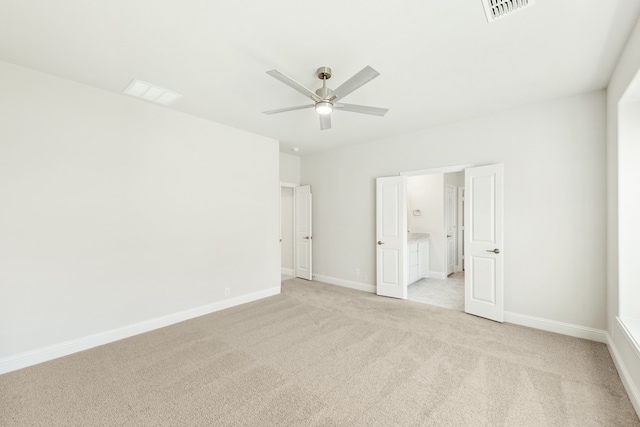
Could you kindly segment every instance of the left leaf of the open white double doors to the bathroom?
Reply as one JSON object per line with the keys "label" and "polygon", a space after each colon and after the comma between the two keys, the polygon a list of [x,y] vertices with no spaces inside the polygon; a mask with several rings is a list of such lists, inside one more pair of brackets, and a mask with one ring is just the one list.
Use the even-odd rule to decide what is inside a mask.
{"label": "left leaf of the open white double doors to the bathroom", "polygon": [[376,292],[407,298],[407,179],[376,179]]}

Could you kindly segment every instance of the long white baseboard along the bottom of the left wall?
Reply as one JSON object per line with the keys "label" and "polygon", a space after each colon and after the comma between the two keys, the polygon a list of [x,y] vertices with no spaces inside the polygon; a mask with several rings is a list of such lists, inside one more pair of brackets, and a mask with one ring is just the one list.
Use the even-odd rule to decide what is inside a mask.
{"label": "long white baseboard along the bottom of the left wall", "polygon": [[0,374],[16,371],[28,366],[37,365],[38,363],[57,359],[59,357],[68,356],[79,351],[88,350],[93,347],[108,344],[134,335],[139,335],[154,329],[163,328],[195,317],[204,316],[205,314],[214,313],[226,308],[235,307],[237,305],[246,304],[248,302],[257,301],[280,293],[280,287],[265,289],[264,291],[254,292],[248,295],[242,295],[235,298],[229,298],[224,301],[196,307],[190,310],[180,311],[168,316],[158,317],[146,320],[144,322],[135,323],[133,325],[124,326],[122,328],[112,329],[110,331],[100,332],[89,335],[87,337],[78,338],[54,344],[48,347],[32,350],[16,356],[0,359]]}

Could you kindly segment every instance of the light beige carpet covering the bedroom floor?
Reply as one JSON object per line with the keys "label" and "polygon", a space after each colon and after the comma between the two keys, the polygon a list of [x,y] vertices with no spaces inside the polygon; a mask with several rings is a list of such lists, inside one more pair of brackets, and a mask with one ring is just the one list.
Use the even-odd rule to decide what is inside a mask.
{"label": "light beige carpet covering the bedroom floor", "polygon": [[640,426],[603,344],[289,280],[0,376],[2,426]]}

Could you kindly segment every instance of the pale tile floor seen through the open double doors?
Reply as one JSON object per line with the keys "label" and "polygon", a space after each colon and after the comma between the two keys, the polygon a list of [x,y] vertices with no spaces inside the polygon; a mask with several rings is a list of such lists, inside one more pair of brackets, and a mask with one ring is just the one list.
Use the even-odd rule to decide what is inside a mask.
{"label": "pale tile floor seen through the open double doors", "polygon": [[408,299],[464,311],[464,271],[446,279],[426,278],[409,285]]}

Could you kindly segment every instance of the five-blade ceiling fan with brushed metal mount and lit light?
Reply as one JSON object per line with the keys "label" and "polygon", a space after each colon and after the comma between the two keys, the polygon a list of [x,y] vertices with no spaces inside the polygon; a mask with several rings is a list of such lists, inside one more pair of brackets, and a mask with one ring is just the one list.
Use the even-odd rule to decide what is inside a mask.
{"label": "five-blade ceiling fan with brushed metal mount and lit light", "polygon": [[314,103],[309,105],[300,105],[297,107],[263,111],[263,113],[276,114],[284,113],[285,111],[302,110],[305,108],[313,107],[320,117],[320,129],[327,130],[331,129],[331,112],[333,110],[373,114],[374,116],[384,116],[387,111],[389,111],[386,108],[368,107],[366,105],[343,104],[336,102],[380,75],[380,73],[378,73],[370,66],[367,65],[366,67],[364,67],[349,80],[338,86],[335,90],[331,90],[327,87],[327,80],[331,78],[331,68],[320,67],[318,68],[316,73],[318,78],[322,80],[322,87],[315,92],[312,92],[311,90],[302,86],[300,83],[293,80],[291,77],[281,73],[278,70],[267,71],[267,74],[280,80],[287,86],[292,87],[304,96],[311,98]]}

